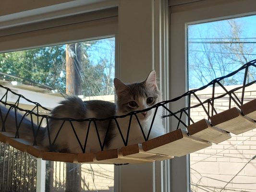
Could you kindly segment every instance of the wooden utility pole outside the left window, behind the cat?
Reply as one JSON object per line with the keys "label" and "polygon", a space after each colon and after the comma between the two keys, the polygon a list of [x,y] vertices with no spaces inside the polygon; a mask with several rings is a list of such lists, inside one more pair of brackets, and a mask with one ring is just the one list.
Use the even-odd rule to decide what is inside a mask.
{"label": "wooden utility pole outside the left window, behind the cat", "polygon": [[[66,45],[66,93],[81,95],[80,43]],[[72,109],[71,109],[72,110]],[[81,163],[66,163],[66,192],[81,192]]]}

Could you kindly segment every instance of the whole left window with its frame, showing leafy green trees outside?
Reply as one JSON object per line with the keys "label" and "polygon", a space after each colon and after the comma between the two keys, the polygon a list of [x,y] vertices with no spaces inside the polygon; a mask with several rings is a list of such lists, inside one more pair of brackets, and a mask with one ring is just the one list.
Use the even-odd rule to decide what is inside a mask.
{"label": "whole left window with its frame, showing leafy green trees outside", "polygon": [[[77,47],[80,48],[80,50],[86,49],[86,51],[80,54],[80,59],[83,62],[82,64],[84,64],[82,67],[85,67],[86,63],[89,64],[87,65],[87,68],[83,68],[83,72],[79,74],[82,79],[82,88],[81,92],[77,92],[76,94],[81,97],[84,96],[85,100],[95,99],[97,97],[97,99],[114,101],[113,86],[111,83],[116,73],[115,63],[117,57],[115,51],[115,36],[117,34],[117,9],[110,8],[87,13],[79,12],[79,14],[76,13],[74,15],[71,14],[71,16],[62,16],[61,18],[57,17],[57,19],[51,19],[50,21],[43,20],[44,19],[42,19],[40,23],[32,21],[29,22],[29,24],[21,24],[20,26],[15,25],[14,27],[11,26],[7,28],[3,27],[1,29],[1,82],[4,82],[5,85],[12,86],[12,88],[14,88],[16,84],[15,89],[26,89],[32,87],[32,91],[34,89],[39,91],[40,94],[43,93],[44,96],[48,95],[51,97],[50,99],[48,96],[46,97],[49,99],[47,102],[45,102],[46,98],[43,99],[44,96],[41,98],[36,97],[39,100],[43,99],[42,105],[45,104],[45,107],[47,108],[54,107],[54,105],[60,101],[58,99],[61,98],[61,100],[63,100],[63,96],[60,91],[66,93],[66,45],[64,45],[64,43],[68,43],[68,50],[71,50],[69,52],[71,54],[77,51]],[[82,42],[85,39],[86,42]],[[11,56],[12,54],[13,57]],[[31,56],[30,60],[25,61],[24,58],[29,58],[29,54]],[[43,57],[43,55],[49,60]],[[16,65],[10,65],[10,63],[16,63]],[[36,63],[38,65],[36,65]],[[48,68],[44,67],[45,63],[47,63]],[[22,70],[19,70],[22,66]],[[52,71],[49,69],[52,69]],[[88,82],[83,81],[83,78],[86,78],[85,75],[91,74],[88,73],[89,71],[95,72],[98,75],[98,82],[96,80],[92,80],[89,83],[95,83],[93,84],[95,89],[85,88],[88,85],[86,85]],[[16,78],[15,76],[22,76],[22,78]],[[98,84],[99,79],[103,79],[103,81],[100,81],[100,84]],[[31,89],[29,90],[31,91]],[[69,91],[69,93],[71,93],[71,90]],[[56,97],[57,99],[54,100],[53,97]],[[35,100],[35,96],[33,95],[32,97],[30,95],[29,98],[31,100]],[[52,100],[54,100],[54,102],[51,102]],[[1,145],[1,151],[6,151],[7,149],[9,149],[9,146]],[[8,152],[6,153],[8,154]],[[1,160],[3,157],[7,157],[6,153],[0,154]],[[15,151],[13,153],[15,153]],[[26,158],[31,159],[32,157],[26,156]],[[24,162],[25,160],[22,161],[22,163]],[[51,191],[51,189],[54,188],[61,191],[66,187],[64,180],[66,179],[65,177],[67,174],[63,172],[66,172],[68,165],[60,162],[47,162],[47,174],[45,174],[44,165],[40,159],[35,159],[35,162],[35,168],[32,167],[32,165],[30,166],[30,168],[33,168],[34,172],[30,170],[28,170],[30,171],[29,173],[25,172],[25,169],[28,167],[28,163],[25,164],[26,167],[24,167],[23,164],[20,164],[24,169],[21,169],[20,167],[19,170],[22,170],[21,177],[28,177],[28,174],[29,177],[32,177],[33,175],[33,177],[36,178],[35,176],[37,176],[37,186],[35,180],[31,181],[33,182],[32,188],[28,187],[28,184],[31,184],[30,180],[28,182],[20,180],[19,182],[17,181],[18,188],[31,189],[32,191],[35,191],[36,187],[37,190],[40,191]],[[7,162],[2,161],[1,163],[3,163],[1,165],[4,165],[6,168],[7,165],[11,166],[11,164],[7,164]],[[72,170],[75,170],[77,165],[78,164],[73,164],[72,168],[69,167],[71,172]],[[82,165],[80,170],[81,173],[83,173],[80,175],[82,177],[80,183],[81,188],[84,190],[113,191],[114,166],[91,165],[88,167],[86,165]],[[8,180],[9,185],[11,184],[10,186],[12,186],[12,180],[5,177],[6,173],[8,172],[3,173],[3,177],[1,177],[4,181],[3,184]],[[72,177],[72,175],[69,176]],[[46,181],[45,177],[47,178]],[[5,190],[6,185],[1,185],[1,187],[4,187],[3,190]]]}

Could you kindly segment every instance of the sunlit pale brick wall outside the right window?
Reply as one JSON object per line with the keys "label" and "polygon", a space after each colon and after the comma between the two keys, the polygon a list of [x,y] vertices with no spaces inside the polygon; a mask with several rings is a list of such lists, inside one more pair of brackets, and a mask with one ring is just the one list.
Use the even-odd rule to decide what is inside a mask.
{"label": "sunlit pale brick wall outside the right window", "polygon": [[[228,90],[235,86],[227,86]],[[224,93],[216,87],[215,96]],[[241,90],[236,92],[240,97]],[[212,88],[198,94],[201,100],[212,96]],[[256,98],[256,85],[245,89],[244,103]],[[191,104],[198,101],[191,97]],[[223,97],[215,101],[217,112],[228,109],[229,98]],[[232,102],[234,106],[234,102]],[[207,106],[206,106],[207,107]],[[207,119],[203,108],[191,110],[191,116],[196,122]],[[239,135],[220,144],[190,154],[191,190],[192,192],[256,192],[256,129]]]}

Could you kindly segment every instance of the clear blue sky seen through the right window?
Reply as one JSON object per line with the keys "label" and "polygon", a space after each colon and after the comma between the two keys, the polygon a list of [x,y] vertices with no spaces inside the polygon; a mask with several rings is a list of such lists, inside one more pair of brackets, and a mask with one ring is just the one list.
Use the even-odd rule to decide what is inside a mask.
{"label": "clear blue sky seen through the right window", "polygon": [[[231,22],[238,26],[239,35],[232,35]],[[238,69],[243,60],[236,62],[236,57],[243,55],[248,61],[256,59],[256,15],[188,25],[187,38],[189,88],[198,88]],[[242,52],[237,51],[240,45]],[[241,83],[239,78],[236,80],[233,84]]]}

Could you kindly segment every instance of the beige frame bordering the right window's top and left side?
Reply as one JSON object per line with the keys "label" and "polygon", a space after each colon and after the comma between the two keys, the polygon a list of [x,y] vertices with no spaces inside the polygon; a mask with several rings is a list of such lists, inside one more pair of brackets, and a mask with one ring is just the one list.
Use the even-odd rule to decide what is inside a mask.
{"label": "beige frame bordering the right window's top and left side", "polygon": [[[255,0],[169,0],[171,7],[171,98],[188,90],[186,28],[188,24],[255,14]],[[177,81],[179,80],[179,81]],[[186,101],[171,106],[179,109]],[[171,161],[171,192],[190,192],[189,155]]]}

